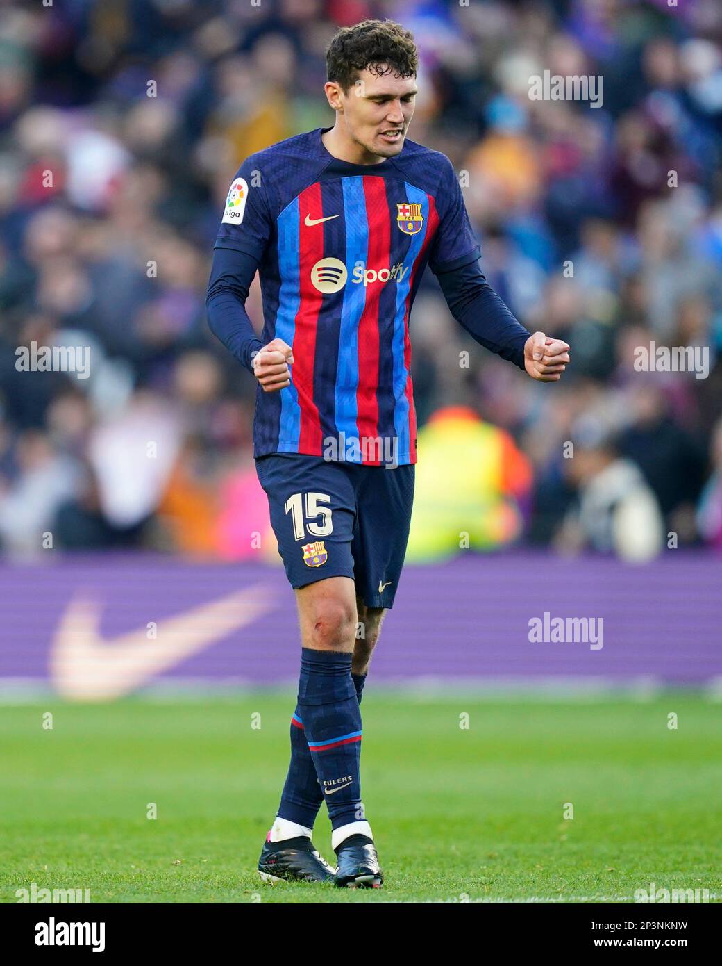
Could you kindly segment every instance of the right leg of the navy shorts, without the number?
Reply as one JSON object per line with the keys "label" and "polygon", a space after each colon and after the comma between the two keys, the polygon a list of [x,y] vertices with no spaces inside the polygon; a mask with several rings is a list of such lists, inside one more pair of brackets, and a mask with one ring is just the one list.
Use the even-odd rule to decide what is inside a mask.
{"label": "right leg of the navy shorts, without the number", "polygon": [[414,470],[413,465],[359,468],[354,575],[358,596],[374,611],[394,604],[411,525]]}

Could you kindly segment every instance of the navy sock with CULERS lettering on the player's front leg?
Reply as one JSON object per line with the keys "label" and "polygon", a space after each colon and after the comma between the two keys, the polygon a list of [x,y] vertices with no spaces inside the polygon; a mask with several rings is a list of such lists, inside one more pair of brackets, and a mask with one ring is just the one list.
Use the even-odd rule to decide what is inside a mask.
{"label": "navy sock with CULERS lettering on the player's front leg", "polygon": [[350,653],[301,648],[298,709],[331,828],[362,819],[361,712]]}

